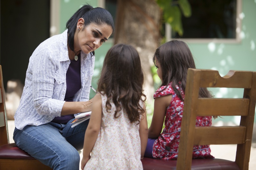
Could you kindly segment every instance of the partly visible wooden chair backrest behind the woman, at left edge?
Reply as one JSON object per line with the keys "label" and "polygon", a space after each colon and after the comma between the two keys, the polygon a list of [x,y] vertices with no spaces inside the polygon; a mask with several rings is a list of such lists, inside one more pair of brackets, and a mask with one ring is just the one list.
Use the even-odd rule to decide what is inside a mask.
{"label": "partly visible wooden chair backrest behind the woman, at left edge", "polygon": [[2,66],[0,65],[0,146],[9,143]]}

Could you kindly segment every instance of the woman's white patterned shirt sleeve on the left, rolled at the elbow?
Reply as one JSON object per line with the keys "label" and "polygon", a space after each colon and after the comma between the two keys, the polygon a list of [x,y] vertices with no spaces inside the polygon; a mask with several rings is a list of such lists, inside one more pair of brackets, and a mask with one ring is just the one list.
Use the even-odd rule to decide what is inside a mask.
{"label": "woman's white patterned shirt sleeve on the left, rolled at the elbow", "polygon": [[58,91],[54,84],[66,81],[63,74],[58,73],[59,64],[54,62],[48,49],[40,50],[32,60],[31,90],[36,111],[40,115],[60,116],[65,101],[52,98],[53,91]]}

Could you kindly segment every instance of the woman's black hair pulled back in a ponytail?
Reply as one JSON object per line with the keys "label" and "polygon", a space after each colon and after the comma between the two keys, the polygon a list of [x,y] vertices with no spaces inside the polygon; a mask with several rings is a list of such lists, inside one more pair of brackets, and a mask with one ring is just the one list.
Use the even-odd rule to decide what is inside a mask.
{"label": "woman's black hair pulled back in a ponytail", "polygon": [[[91,5],[84,5],[73,14],[66,24],[66,28],[68,28],[68,45],[72,51],[74,51],[74,35],[79,18],[84,19],[84,27],[91,23],[97,25],[107,24],[112,27],[114,32],[113,17],[107,10],[100,7],[93,8]],[[94,51],[92,54],[94,55]]]}

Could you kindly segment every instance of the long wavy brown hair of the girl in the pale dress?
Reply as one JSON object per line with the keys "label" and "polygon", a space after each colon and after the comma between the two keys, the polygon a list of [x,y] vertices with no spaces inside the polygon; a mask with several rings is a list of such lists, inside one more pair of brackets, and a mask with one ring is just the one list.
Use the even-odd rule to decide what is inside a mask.
{"label": "long wavy brown hair of the girl in the pale dress", "polygon": [[115,106],[115,118],[122,109],[126,111],[131,122],[140,121],[144,109],[140,100],[145,101],[143,94],[144,73],[140,56],[131,45],[116,44],[110,48],[103,62],[98,91],[107,95],[107,111],[111,109],[110,100]]}

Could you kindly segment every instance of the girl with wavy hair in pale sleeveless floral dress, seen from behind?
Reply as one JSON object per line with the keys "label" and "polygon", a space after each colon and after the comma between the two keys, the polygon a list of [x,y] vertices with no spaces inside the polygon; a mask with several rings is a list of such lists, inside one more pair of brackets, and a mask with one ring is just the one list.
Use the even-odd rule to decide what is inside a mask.
{"label": "girl with wavy hair in pale sleeveless floral dress, seen from behind", "polygon": [[143,82],[135,48],[125,44],[110,48],[85,132],[82,169],[143,169],[140,159],[148,141]]}

